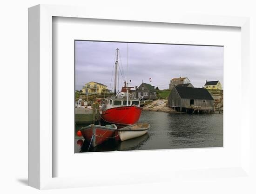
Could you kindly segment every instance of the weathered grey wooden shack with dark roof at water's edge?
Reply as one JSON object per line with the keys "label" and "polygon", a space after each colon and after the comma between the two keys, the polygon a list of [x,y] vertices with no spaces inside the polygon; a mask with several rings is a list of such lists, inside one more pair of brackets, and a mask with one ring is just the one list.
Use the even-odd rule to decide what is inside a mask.
{"label": "weathered grey wooden shack with dark roof at water's edge", "polygon": [[168,105],[177,111],[188,108],[211,108],[213,97],[207,89],[175,86],[168,97]]}

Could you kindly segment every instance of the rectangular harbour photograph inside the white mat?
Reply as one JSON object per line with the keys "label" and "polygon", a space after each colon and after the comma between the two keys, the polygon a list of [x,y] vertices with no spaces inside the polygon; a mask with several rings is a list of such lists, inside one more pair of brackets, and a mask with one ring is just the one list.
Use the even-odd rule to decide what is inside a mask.
{"label": "rectangular harbour photograph inside the white mat", "polygon": [[223,146],[223,46],[74,47],[75,153]]}

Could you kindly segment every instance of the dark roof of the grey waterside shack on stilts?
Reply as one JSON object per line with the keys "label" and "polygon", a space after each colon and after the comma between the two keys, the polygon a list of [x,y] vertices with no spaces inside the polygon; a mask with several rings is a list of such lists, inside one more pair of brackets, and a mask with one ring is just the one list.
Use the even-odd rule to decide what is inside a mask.
{"label": "dark roof of the grey waterside shack on stilts", "polygon": [[202,100],[213,100],[209,91],[204,88],[191,88],[191,87],[176,87],[175,89],[179,93],[181,98],[189,99],[202,99]]}

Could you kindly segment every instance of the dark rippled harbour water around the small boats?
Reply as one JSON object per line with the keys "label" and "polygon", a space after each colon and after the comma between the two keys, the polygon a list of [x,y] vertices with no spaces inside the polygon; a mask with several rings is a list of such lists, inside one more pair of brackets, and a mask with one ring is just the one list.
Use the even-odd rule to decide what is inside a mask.
{"label": "dark rippled harbour water around the small boats", "polygon": [[[127,141],[107,142],[89,148],[82,137],[75,136],[75,153],[125,150],[211,148],[223,146],[223,114],[185,114],[142,111],[138,123],[149,123],[144,136]],[[76,130],[86,125],[76,125]]]}

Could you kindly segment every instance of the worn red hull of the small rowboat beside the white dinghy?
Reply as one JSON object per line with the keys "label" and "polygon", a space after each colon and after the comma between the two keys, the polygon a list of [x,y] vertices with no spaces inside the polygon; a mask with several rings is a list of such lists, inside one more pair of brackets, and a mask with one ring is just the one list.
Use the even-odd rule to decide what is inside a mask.
{"label": "worn red hull of the small rowboat beside the white dinghy", "polygon": [[97,145],[107,141],[110,137],[113,137],[115,129],[102,129],[97,126],[93,126],[88,129],[82,129],[81,133],[84,139],[91,143],[91,146],[96,147]]}

